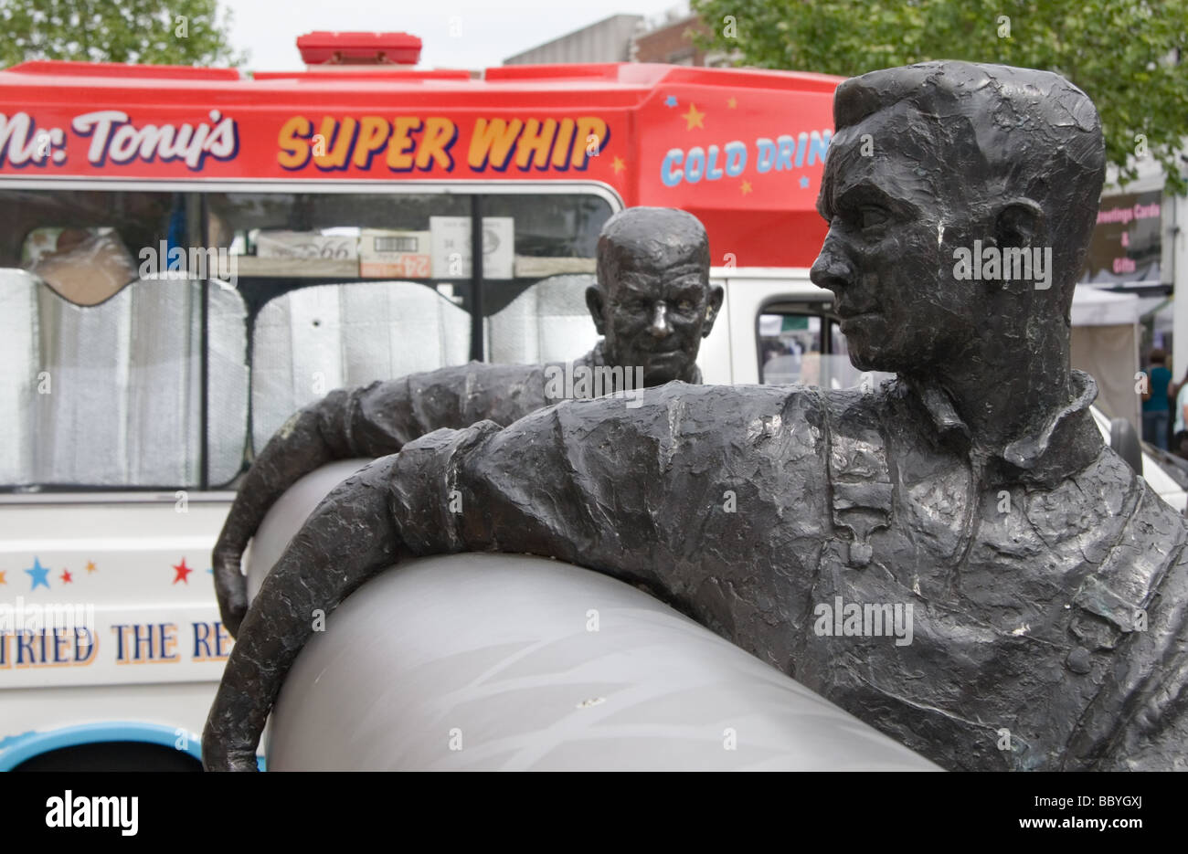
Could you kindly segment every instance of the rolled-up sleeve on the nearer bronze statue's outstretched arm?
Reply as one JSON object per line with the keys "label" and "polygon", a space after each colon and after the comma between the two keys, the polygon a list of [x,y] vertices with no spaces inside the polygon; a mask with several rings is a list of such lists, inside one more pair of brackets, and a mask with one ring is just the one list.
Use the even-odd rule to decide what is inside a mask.
{"label": "rolled-up sleeve on the nearer bronze statue's outstretched arm", "polygon": [[[425,436],[394,462],[402,539],[418,555],[522,552],[596,569],[728,638],[775,611],[798,620],[829,524],[820,411],[808,392],[747,391],[672,382],[638,409],[575,400],[503,430]],[[788,596],[753,569],[772,564]],[[777,666],[789,644],[776,645]]]}

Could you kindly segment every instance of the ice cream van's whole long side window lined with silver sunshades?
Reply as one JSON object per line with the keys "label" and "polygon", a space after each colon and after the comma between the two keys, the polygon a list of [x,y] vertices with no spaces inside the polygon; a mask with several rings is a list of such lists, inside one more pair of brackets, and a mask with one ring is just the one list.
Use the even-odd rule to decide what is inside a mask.
{"label": "ice cream van's whole long side window lined with silver sunshades", "polygon": [[333,388],[580,356],[613,213],[546,192],[0,198],[0,348],[20,366],[0,380],[0,488],[17,491],[226,487]]}

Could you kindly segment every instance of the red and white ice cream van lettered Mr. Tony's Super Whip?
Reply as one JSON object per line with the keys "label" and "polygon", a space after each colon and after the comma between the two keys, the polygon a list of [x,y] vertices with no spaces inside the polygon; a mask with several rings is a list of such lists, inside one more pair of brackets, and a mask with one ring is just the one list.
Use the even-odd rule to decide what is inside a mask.
{"label": "red and white ice cream van lettered Mr. Tony's Super Whip", "polygon": [[808,279],[839,78],[298,46],[305,71],[0,71],[0,770],[196,770],[253,451],[339,386],[580,355],[617,210],[706,224],[707,382],[859,380]]}

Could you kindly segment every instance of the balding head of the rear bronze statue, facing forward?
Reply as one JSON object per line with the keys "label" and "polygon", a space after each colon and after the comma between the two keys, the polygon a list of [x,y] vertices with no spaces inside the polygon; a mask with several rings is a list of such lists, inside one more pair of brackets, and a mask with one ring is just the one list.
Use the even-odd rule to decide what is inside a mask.
{"label": "balding head of the rear bronze statue, facing forward", "polygon": [[704,227],[672,208],[615,214],[599,235],[586,304],[607,362],[643,367],[649,386],[690,379],[722,304],[722,289],[709,285]]}

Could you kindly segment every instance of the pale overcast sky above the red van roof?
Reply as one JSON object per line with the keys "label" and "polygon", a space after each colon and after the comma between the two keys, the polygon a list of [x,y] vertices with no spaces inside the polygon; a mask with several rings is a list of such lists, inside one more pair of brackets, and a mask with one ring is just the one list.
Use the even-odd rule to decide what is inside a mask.
{"label": "pale overcast sky above the red van roof", "polygon": [[[297,37],[314,30],[409,32],[424,42],[424,68],[501,65],[520,51],[613,14],[659,15],[681,0],[221,0],[232,39],[253,70],[304,68]],[[461,36],[451,37],[457,15]]]}

